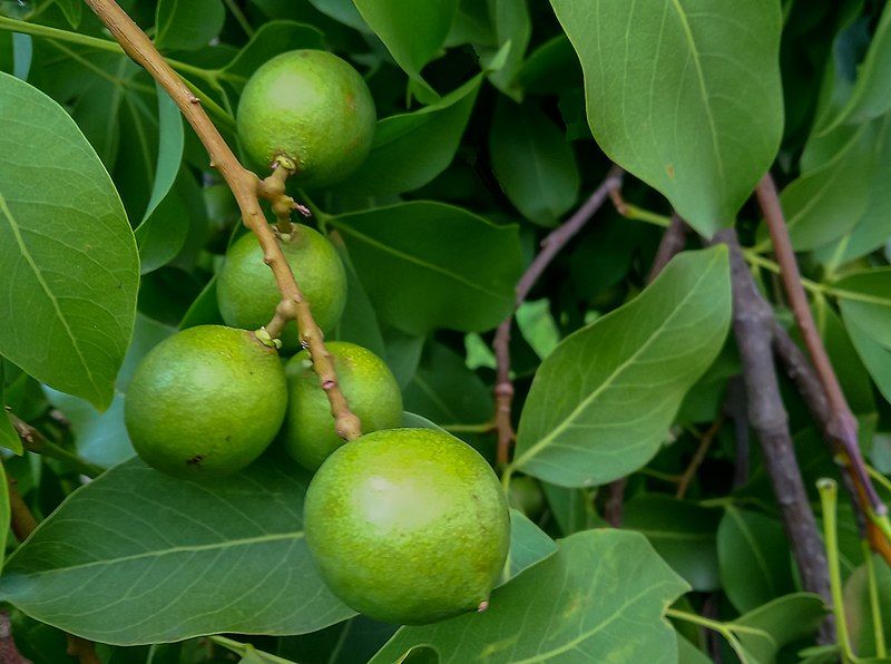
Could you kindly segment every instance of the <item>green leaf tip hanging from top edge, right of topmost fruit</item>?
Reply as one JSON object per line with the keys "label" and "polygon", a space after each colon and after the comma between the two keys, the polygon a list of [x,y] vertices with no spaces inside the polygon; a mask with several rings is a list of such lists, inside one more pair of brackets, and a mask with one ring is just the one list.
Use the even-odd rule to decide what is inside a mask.
{"label": "green leaf tip hanging from top edge, right of topmost fruit", "polygon": [[411,78],[423,82],[421,69],[442,48],[458,0],[418,4],[412,0],[353,0],[359,13],[381,38]]}

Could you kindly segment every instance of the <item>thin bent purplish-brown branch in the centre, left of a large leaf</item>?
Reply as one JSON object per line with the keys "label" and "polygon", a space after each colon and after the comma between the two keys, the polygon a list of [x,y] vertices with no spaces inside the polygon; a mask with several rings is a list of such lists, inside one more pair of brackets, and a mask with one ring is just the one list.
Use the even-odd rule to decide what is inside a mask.
{"label": "thin bent purplish-brown branch in the centre, left of a large leaf", "polygon": [[[618,166],[609,169],[604,182],[600,183],[588,199],[564,224],[551,231],[541,241],[541,250],[529,264],[515,289],[515,311],[523,303],[529,291],[536,285],[541,274],[551,264],[554,258],[566,244],[585,227],[585,224],[604,205],[606,197],[614,189],[621,186],[624,172]],[[507,466],[510,457],[510,445],[516,437],[511,422],[511,404],[513,402],[513,383],[510,380],[510,326],[513,323],[513,312],[501,321],[495,333],[492,349],[496,357],[495,382],[495,422],[498,431],[498,465]]]}

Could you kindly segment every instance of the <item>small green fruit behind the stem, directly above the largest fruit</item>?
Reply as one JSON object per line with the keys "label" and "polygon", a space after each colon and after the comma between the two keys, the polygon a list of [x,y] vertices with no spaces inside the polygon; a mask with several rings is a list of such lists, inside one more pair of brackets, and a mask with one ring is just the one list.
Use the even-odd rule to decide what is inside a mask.
{"label": "small green fruit behind the stem, directly above the largest fruit", "polygon": [[[333,357],[337,382],[350,410],[362,422],[362,431],[371,433],[399,427],[402,394],[384,361],[370,350],[345,341],[331,341],[325,348]],[[288,406],[282,438],[288,453],[301,466],[315,471],[343,445],[343,439],[334,430],[327,394],[306,351],[288,360],[285,375]]]}

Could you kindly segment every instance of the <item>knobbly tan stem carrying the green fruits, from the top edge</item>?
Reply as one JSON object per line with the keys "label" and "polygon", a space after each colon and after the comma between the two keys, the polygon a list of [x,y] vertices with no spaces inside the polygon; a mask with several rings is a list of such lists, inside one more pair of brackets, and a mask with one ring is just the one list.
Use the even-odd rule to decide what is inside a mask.
{"label": "knobbly tan stem carrying the green fruits, from the top edge", "polygon": [[340,390],[331,354],[323,342],[322,331],[315,324],[310,312],[310,303],[304,299],[294,274],[291,272],[291,266],[278,246],[275,233],[260,207],[258,196],[264,195],[268,183],[261,184],[254,173],[242,166],[210,118],[207,117],[200,106],[200,100],[192,94],[192,90],[158,53],[145,32],[114,0],[86,0],[86,2],[126,53],[167,90],[183,116],[195,129],[195,134],[210,156],[210,166],[219,170],[235,195],[243,222],[256,235],[263,247],[263,260],[275,275],[282,300],[272,321],[266,325],[266,331],[271,338],[276,339],[286,323],[292,320],[297,322],[301,343],[309,349],[313,369],[327,394],[337,433],[346,440],[358,438],[362,433],[361,422],[350,411],[346,399]]}

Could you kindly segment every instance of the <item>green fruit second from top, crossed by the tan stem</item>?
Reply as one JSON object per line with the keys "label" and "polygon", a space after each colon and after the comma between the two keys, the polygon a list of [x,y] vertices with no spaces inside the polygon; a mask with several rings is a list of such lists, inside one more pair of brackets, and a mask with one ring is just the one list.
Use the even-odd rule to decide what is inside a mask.
{"label": "green fruit second from top, crossed by the tan stem", "polygon": [[[280,246],[310,302],[315,323],[330,332],[346,304],[346,271],[337,250],[324,235],[302,224],[294,224],[291,240]],[[235,328],[256,330],[275,314],[281,295],[272,270],[263,262],[263,250],[251,233],[226,252],[217,275],[216,299],[223,320]],[[288,323],[282,332],[282,350],[298,348],[297,326]]]}

